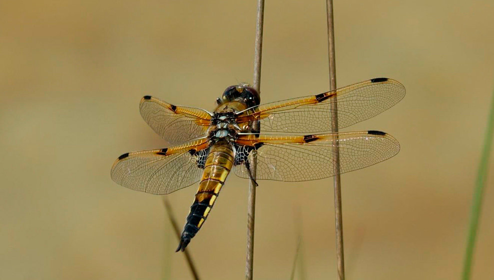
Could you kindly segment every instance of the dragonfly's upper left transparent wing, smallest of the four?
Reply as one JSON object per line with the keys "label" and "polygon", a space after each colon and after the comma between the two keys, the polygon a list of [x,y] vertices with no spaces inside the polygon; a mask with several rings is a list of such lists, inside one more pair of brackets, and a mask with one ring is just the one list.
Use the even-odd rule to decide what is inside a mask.
{"label": "dragonfly's upper left transparent wing, smallest of the four", "polygon": [[139,110],[147,124],[170,144],[204,135],[211,120],[206,110],[172,105],[148,95],[142,97]]}

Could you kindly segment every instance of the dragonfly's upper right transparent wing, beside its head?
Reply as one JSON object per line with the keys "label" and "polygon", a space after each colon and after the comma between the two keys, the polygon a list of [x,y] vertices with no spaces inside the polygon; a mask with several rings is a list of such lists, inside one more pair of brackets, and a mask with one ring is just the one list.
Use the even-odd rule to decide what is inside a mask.
{"label": "dragonfly's upper right transparent wing, beside its head", "polygon": [[371,118],[405,96],[405,87],[389,78],[374,78],[329,92],[251,107],[239,112],[237,123],[260,119],[262,132],[331,132],[333,109],[338,127]]}

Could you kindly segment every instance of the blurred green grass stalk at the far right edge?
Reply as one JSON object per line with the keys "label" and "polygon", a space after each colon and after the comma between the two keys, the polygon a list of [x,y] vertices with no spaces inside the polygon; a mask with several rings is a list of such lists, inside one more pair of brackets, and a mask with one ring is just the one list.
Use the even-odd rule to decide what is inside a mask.
{"label": "blurred green grass stalk at the far right edge", "polygon": [[493,96],[491,96],[491,111],[489,113],[489,119],[487,121],[486,137],[484,140],[484,147],[481,155],[481,161],[477,172],[477,179],[475,182],[474,197],[472,201],[472,212],[470,215],[470,227],[467,239],[467,250],[465,251],[464,263],[463,263],[463,280],[470,279],[472,274],[472,260],[474,255],[475,241],[477,239],[477,229],[479,228],[479,217],[482,208],[482,196],[484,193],[484,187],[486,185],[486,178],[489,169],[489,157],[491,155],[491,148],[493,143],[493,130],[494,130],[494,90]]}

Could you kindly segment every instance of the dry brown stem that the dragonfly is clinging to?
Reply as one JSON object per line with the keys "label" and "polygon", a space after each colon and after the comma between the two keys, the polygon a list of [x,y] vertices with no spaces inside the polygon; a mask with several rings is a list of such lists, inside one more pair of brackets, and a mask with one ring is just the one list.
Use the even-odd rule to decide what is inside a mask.
{"label": "dry brown stem that the dragonfly is clinging to", "polygon": [[[256,20],[256,42],[254,52],[254,82],[253,87],[257,92],[261,92],[261,53],[262,53],[262,27],[264,19],[264,0],[257,1],[257,20]],[[259,121],[253,124],[253,129],[259,130]],[[256,178],[256,153],[253,154],[253,160],[250,163],[253,179]],[[254,221],[256,214],[256,183],[249,180],[249,198],[247,205],[247,259],[245,263],[245,279],[252,280],[254,268]]]}

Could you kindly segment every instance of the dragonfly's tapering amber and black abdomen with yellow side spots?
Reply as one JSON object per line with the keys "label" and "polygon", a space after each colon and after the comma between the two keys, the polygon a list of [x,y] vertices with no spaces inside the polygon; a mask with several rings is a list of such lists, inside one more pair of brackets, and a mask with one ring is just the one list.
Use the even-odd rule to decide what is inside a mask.
{"label": "dragonfly's tapering amber and black abdomen with yellow side spots", "polygon": [[190,206],[190,212],[187,216],[177,251],[183,251],[190,239],[201,228],[213,208],[220,189],[233,166],[233,162],[233,150],[226,142],[216,143],[211,146],[204,164],[204,172],[199,183],[199,189],[192,206]]}

